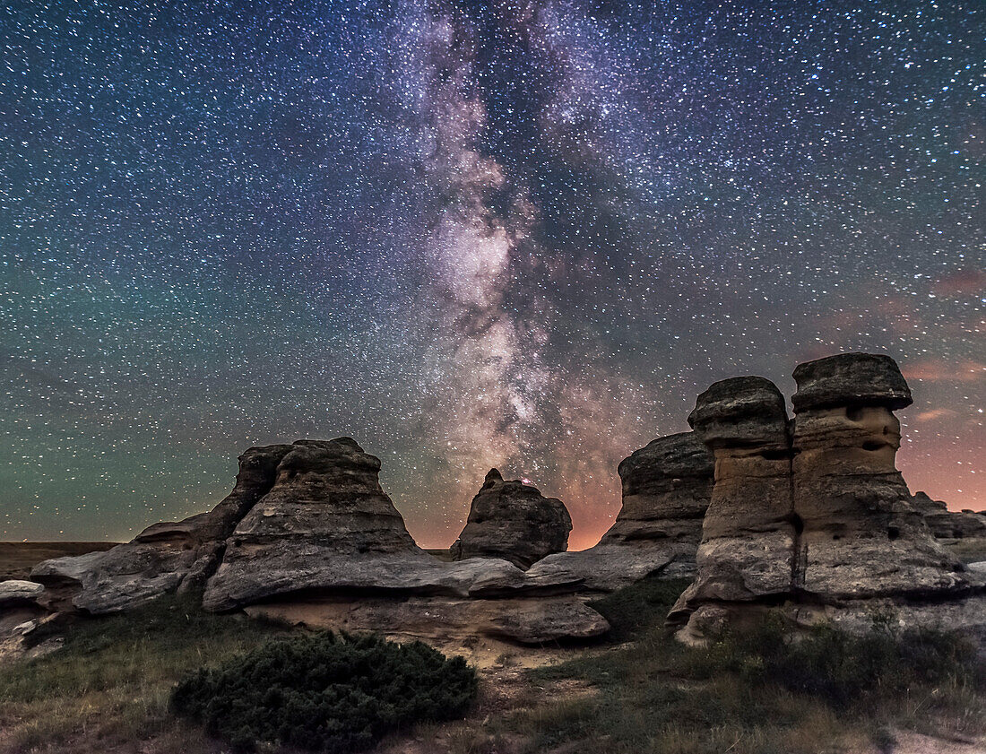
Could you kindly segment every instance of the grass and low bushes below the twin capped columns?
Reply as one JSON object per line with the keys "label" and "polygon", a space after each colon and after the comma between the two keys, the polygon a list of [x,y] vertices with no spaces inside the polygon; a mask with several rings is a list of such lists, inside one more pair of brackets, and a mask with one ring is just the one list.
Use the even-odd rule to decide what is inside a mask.
{"label": "grass and low bushes below the twin capped columns", "polygon": [[593,694],[505,720],[528,752],[818,754],[862,745],[890,752],[893,730],[977,734],[986,674],[975,648],[938,632],[862,638],[820,627],[797,638],[778,619],[706,649],[661,628],[678,583],[639,583],[594,604],[632,644],[530,672],[577,679]]}

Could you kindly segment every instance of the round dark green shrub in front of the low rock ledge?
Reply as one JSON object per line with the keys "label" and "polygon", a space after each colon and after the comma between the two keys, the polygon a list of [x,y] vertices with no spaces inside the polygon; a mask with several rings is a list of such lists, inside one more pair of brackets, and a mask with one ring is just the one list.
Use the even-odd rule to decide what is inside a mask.
{"label": "round dark green shrub in front of the low rock ledge", "polygon": [[241,750],[277,743],[342,754],[415,722],[461,717],[475,694],[462,657],[325,632],[202,669],[177,685],[172,708]]}

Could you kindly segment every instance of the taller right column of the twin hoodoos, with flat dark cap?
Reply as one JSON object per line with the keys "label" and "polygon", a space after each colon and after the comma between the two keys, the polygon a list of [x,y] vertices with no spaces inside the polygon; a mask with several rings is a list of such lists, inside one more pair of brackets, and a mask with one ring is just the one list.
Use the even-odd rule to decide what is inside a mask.
{"label": "taller right column of the twin hoodoos, with flat dark cap", "polygon": [[907,382],[887,356],[840,354],[794,372],[796,587],[824,601],[967,585],[895,466]]}

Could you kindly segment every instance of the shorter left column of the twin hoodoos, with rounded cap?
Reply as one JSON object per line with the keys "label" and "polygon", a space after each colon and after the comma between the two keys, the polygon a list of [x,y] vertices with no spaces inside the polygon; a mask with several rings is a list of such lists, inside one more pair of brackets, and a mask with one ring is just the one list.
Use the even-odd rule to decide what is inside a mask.
{"label": "shorter left column of the twin hoodoos, with rounded cap", "polygon": [[698,574],[671,609],[669,625],[687,621],[697,638],[730,603],[790,593],[797,531],[788,417],[773,382],[716,382],[698,396],[688,423],[715,455],[715,484]]}

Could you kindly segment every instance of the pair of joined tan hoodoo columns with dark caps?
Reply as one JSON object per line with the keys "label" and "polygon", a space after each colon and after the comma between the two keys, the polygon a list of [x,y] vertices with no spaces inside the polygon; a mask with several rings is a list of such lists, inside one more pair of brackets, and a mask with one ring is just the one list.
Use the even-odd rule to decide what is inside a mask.
{"label": "pair of joined tan hoodoo columns with dark caps", "polygon": [[794,377],[793,436],[765,379],[727,379],[699,396],[689,422],[716,455],[716,481],[698,575],[669,626],[700,641],[783,604],[804,622],[855,629],[893,608],[904,623],[949,615],[986,633],[982,578],[935,541],[894,466],[892,411],[910,403],[896,364],[845,354],[800,365]]}

